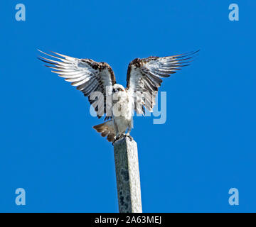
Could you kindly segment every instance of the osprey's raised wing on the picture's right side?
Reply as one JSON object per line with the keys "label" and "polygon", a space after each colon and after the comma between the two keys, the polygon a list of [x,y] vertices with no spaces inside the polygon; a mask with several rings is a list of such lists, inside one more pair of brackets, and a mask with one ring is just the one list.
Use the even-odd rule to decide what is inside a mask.
{"label": "osprey's raised wing on the picture's right side", "polygon": [[181,67],[191,62],[196,52],[132,60],[127,70],[127,92],[134,98],[134,110],[138,114],[144,114],[144,107],[146,107],[152,112],[156,94],[162,82],[161,77],[169,77],[170,74],[181,70]]}

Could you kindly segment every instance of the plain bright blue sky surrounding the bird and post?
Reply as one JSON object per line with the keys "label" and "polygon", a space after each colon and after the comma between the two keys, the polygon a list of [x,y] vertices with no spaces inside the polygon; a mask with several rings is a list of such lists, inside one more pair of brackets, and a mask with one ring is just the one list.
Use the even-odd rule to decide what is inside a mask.
{"label": "plain bright blue sky surrounding the bird and post", "polygon": [[[16,21],[15,6],[26,6]],[[229,21],[228,6],[240,21]],[[37,48],[108,62],[201,49],[164,79],[167,121],[134,118],[144,212],[255,210],[255,7],[234,1],[1,1],[1,212],[117,212],[111,143]],[[26,190],[16,206],[15,190]],[[228,190],[239,190],[239,206]]]}

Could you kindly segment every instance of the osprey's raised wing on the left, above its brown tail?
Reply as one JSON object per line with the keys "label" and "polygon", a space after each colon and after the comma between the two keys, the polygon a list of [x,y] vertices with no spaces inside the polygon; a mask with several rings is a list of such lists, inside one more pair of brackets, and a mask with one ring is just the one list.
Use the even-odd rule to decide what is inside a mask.
{"label": "osprey's raised wing on the left, above its brown tail", "polygon": [[[39,50],[42,52],[41,50]],[[111,117],[111,104],[107,105],[106,97],[112,94],[112,86],[116,83],[114,72],[110,65],[105,62],[95,62],[90,59],[78,59],[61,55],[53,52],[55,55],[48,55],[53,59],[38,57],[39,60],[46,62],[46,67],[52,68],[54,73],[65,78],[65,81],[71,82],[85,96],[88,97],[90,104],[94,107],[98,118],[108,114],[105,119]],[[101,94],[97,96],[97,94]],[[95,97],[97,96],[97,98]]]}

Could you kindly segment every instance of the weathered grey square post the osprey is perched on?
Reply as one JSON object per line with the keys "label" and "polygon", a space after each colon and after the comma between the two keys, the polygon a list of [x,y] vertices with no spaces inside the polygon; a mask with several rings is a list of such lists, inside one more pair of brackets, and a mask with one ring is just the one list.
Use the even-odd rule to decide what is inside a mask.
{"label": "weathered grey square post the osprey is perched on", "polygon": [[124,137],[114,143],[120,213],[142,213],[137,143]]}

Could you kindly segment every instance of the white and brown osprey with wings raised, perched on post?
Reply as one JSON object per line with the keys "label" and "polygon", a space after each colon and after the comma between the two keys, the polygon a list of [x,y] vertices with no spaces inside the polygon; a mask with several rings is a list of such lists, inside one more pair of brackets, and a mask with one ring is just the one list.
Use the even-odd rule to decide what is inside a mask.
{"label": "white and brown osprey with wings raised, perched on post", "polygon": [[124,135],[132,140],[129,133],[133,128],[133,111],[144,114],[146,108],[152,112],[161,77],[169,77],[181,70],[196,52],[132,60],[127,70],[125,89],[117,84],[112,68],[105,62],[69,57],[57,52],[53,52],[55,55],[42,52],[53,59],[42,56],[38,59],[46,62],[46,67],[55,70],[52,72],[71,82],[71,85],[87,96],[98,118],[105,115],[108,121],[93,128],[114,143]]}

